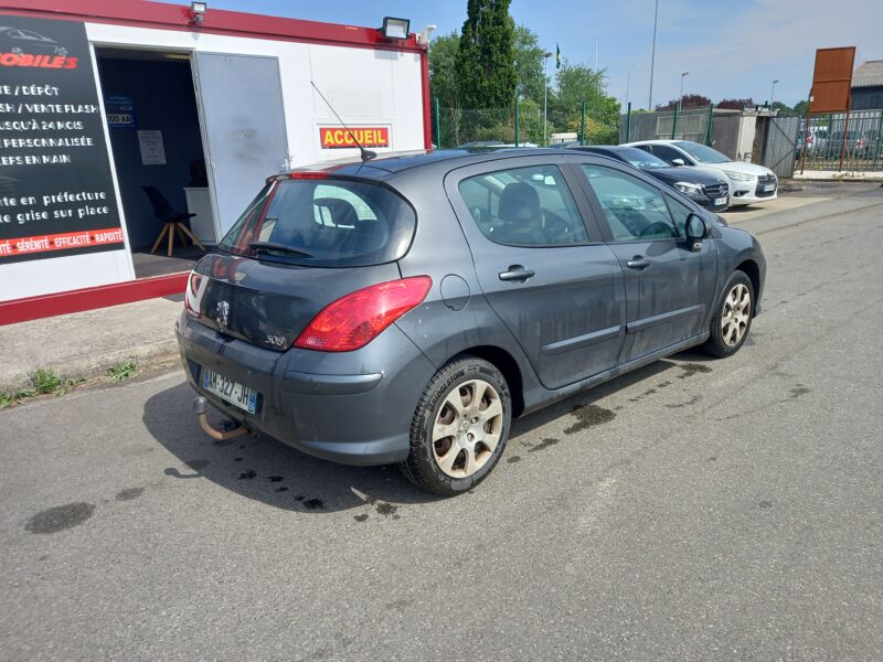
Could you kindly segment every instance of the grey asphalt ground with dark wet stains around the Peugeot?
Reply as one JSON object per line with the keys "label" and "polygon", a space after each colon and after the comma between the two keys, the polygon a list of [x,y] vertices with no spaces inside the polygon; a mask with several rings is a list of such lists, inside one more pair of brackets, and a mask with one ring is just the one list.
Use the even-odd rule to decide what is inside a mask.
{"label": "grey asphalt ground with dark wet stains around the Peugeot", "polygon": [[746,217],[735,357],[522,419],[457,499],[216,445],[178,373],[0,412],[0,658],[883,659],[883,189]]}

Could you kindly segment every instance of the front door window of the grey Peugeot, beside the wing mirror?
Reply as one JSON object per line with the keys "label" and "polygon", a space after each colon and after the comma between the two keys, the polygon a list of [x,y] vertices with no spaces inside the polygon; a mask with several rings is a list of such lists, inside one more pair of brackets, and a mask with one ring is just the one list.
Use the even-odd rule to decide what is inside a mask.
{"label": "front door window of the grey Peugeot, beside the wing mirror", "polygon": [[666,201],[639,179],[598,166],[583,166],[617,242],[672,239],[680,236]]}

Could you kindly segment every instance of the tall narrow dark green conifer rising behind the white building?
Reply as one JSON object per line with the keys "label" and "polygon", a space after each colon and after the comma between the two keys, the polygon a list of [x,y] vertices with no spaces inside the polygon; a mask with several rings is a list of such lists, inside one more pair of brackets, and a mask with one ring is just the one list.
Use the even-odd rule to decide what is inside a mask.
{"label": "tall narrow dark green conifer rising behind the white building", "polygon": [[518,76],[510,2],[468,0],[456,61],[459,98],[466,108],[507,108],[512,105]]}

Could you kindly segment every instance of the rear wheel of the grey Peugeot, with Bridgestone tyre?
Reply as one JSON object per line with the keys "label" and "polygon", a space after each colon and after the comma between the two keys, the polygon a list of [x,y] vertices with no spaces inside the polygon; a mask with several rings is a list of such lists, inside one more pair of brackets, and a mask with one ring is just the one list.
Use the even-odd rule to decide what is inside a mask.
{"label": "rear wheel of the grey Peugeot, with Bridgestone tyre", "polygon": [[454,496],[485,480],[509,439],[509,385],[497,367],[464,356],[426,386],[411,425],[411,453],[402,473],[419,488]]}

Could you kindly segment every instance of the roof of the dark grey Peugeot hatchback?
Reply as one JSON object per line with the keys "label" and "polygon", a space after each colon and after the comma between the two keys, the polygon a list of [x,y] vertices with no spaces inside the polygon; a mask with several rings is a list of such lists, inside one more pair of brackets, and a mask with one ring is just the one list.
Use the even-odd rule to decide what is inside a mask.
{"label": "roof of the dark grey Peugeot hatchback", "polygon": [[566,150],[535,147],[512,147],[493,151],[470,151],[466,149],[419,150],[383,154],[364,163],[359,158],[327,161],[325,163],[296,168],[291,170],[291,172],[320,171],[340,177],[389,179],[391,175],[407,170],[433,164],[446,164],[448,169],[453,169],[512,157],[561,156],[563,151]]}

